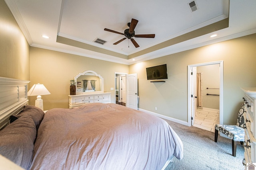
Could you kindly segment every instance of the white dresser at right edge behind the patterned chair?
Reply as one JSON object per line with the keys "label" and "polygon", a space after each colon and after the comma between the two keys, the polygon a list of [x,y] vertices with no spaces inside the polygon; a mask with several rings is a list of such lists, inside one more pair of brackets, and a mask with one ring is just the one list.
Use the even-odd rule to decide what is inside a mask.
{"label": "white dresser at right edge behind the patterned chair", "polygon": [[256,162],[256,88],[242,88],[244,91],[244,123],[245,139],[244,139],[244,166],[247,163]]}

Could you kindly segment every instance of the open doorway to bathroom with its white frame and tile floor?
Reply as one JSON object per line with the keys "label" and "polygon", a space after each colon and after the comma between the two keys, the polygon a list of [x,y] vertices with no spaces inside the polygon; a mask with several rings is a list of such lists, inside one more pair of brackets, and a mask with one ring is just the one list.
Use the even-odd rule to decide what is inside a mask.
{"label": "open doorway to bathroom with its white frame and tile floor", "polygon": [[223,123],[223,61],[188,66],[188,125],[214,131]]}

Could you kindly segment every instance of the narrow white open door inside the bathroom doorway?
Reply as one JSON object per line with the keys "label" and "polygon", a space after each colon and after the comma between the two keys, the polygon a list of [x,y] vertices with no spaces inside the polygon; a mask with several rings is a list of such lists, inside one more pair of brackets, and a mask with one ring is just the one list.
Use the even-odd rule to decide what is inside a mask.
{"label": "narrow white open door inside the bathroom doorway", "polygon": [[196,116],[196,67],[192,67],[191,68],[191,97],[192,97],[192,100],[191,100],[191,125],[194,125],[194,122],[195,122],[195,116]]}

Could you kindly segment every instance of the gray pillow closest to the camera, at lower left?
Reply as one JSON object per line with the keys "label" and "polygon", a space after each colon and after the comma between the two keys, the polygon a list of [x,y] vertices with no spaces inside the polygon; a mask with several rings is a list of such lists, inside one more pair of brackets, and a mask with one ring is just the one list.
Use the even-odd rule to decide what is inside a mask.
{"label": "gray pillow closest to the camera, at lower left", "polygon": [[30,115],[22,115],[0,131],[0,154],[22,168],[32,161],[36,125]]}

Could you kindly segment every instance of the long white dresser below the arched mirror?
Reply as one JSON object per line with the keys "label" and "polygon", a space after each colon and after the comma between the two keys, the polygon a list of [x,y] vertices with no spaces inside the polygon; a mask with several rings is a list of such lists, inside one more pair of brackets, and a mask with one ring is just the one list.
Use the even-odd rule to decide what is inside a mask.
{"label": "long white dresser below the arched mirror", "polygon": [[76,94],[69,96],[69,108],[78,107],[88,103],[110,103],[111,92]]}

